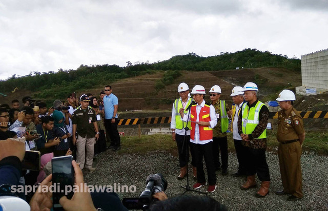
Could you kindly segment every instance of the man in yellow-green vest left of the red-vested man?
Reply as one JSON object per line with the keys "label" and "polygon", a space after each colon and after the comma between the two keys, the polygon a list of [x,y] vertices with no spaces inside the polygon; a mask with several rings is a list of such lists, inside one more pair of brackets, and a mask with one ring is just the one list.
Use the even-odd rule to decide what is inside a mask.
{"label": "man in yellow-green vest left of the red-vested man", "polygon": [[[189,111],[186,111],[186,108],[190,105],[192,101],[194,101],[189,94],[189,87],[187,83],[180,83],[178,87],[178,92],[180,98],[176,99],[173,103],[172,107],[172,118],[171,118],[171,130],[172,130],[172,139],[176,141],[176,145],[178,147],[179,153],[179,164],[180,164],[180,174],[178,176],[178,180],[182,180],[185,178],[187,174],[187,165],[189,161],[189,145],[190,145],[190,121],[183,122],[180,116],[180,110],[188,115]],[[186,133],[186,126],[188,126]],[[185,137],[186,135],[186,137]],[[185,143],[183,144],[183,140]],[[183,149],[182,149],[183,146]],[[191,152],[191,164],[193,168],[193,178],[196,180],[197,171],[196,171],[196,160],[194,158],[193,150],[190,148]]]}

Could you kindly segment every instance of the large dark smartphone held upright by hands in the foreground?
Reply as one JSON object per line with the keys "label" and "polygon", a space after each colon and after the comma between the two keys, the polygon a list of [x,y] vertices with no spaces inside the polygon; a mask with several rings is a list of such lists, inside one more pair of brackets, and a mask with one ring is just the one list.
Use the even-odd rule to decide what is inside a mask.
{"label": "large dark smartphone held upright by hands in the foreground", "polygon": [[52,184],[56,189],[52,193],[53,210],[63,210],[59,204],[59,199],[66,196],[68,199],[73,197],[74,168],[72,166],[73,156],[54,157],[52,165]]}

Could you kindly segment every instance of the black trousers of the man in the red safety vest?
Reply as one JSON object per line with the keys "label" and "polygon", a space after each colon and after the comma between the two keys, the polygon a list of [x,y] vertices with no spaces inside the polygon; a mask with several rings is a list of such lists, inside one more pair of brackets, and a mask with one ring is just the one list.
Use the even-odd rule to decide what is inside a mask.
{"label": "black trousers of the man in the red safety vest", "polygon": [[209,184],[215,185],[216,175],[215,175],[215,167],[214,167],[213,154],[212,154],[213,142],[211,141],[206,144],[196,144],[196,143],[190,143],[190,144],[195,152],[196,167],[197,167],[197,182],[199,183],[206,182],[204,168],[203,168],[203,157],[204,157]]}

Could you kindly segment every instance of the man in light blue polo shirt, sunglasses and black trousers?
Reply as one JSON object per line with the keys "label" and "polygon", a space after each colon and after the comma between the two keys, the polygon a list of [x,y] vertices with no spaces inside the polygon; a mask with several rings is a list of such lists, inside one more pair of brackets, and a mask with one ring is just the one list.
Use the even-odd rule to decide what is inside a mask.
{"label": "man in light blue polo shirt, sunglasses and black trousers", "polygon": [[117,131],[117,109],[118,109],[118,99],[112,94],[112,87],[107,85],[105,87],[104,97],[104,109],[105,109],[105,128],[109,133],[109,137],[111,139],[111,145],[109,149],[113,151],[118,151],[121,149],[120,146],[120,137]]}

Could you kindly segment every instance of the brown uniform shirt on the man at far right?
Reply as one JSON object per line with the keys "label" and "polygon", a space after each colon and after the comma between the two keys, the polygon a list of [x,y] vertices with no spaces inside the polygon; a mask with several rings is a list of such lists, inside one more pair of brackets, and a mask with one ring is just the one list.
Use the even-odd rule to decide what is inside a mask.
{"label": "brown uniform shirt on the man at far right", "polygon": [[291,107],[287,111],[278,112],[277,140],[279,142],[299,139],[298,135],[303,133],[303,119],[296,109]]}

